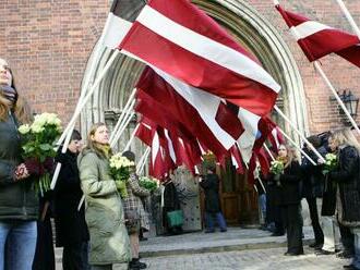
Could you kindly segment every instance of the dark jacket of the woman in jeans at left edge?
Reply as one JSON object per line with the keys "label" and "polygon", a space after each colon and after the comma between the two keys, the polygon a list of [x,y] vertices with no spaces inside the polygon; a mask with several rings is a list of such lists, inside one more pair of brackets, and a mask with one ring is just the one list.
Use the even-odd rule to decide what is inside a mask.
{"label": "dark jacket of the woman in jeans at left edge", "polygon": [[0,121],[0,220],[36,220],[38,197],[32,177],[14,181],[14,171],[22,162],[17,121],[11,113]]}

